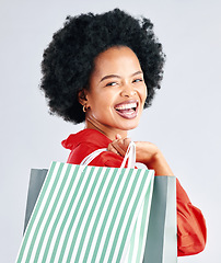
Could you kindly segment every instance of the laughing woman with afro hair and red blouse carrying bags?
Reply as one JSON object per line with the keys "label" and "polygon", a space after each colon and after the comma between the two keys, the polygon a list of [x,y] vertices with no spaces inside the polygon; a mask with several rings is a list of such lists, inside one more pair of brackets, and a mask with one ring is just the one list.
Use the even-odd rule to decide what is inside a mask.
{"label": "laughing woman with afro hair and red blouse carrying bags", "polygon": [[[44,90],[50,111],[85,129],[62,141],[71,150],[68,162],[79,164],[100,148],[108,148],[90,164],[120,167],[142,110],[160,88],[165,56],[147,19],[136,20],[115,9],[67,18],[44,53]],[[173,175],[160,149],[136,141],[137,162],[156,175]],[[206,225],[177,180],[177,252],[199,253]]]}

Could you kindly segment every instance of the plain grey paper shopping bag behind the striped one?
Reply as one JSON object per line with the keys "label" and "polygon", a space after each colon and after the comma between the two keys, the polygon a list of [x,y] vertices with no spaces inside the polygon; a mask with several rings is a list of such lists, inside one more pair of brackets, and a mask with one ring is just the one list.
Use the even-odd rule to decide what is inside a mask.
{"label": "plain grey paper shopping bag behind the striped one", "polygon": [[[35,206],[46,169],[32,169],[27,193],[24,231]],[[177,259],[176,240],[176,179],[155,176],[147,233],[143,263],[174,263]]]}

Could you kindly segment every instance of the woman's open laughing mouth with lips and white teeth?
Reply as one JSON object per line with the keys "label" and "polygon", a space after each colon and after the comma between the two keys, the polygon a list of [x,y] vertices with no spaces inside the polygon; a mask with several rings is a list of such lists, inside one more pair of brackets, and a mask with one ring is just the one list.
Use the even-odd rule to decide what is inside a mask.
{"label": "woman's open laughing mouth with lips and white teeth", "polygon": [[138,101],[121,102],[115,105],[115,110],[124,118],[135,118],[138,115]]}

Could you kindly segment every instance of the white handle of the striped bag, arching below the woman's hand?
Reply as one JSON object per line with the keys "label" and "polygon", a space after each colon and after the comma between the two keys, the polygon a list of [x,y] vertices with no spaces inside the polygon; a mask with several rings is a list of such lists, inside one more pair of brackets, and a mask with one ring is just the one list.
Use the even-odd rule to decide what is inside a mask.
{"label": "white handle of the striped bag, arching below the woman's hand", "polygon": [[[93,151],[92,153],[90,153],[89,156],[86,156],[82,160],[80,165],[89,165],[90,162],[92,162],[98,155],[101,155],[104,151],[107,151],[107,148],[102,148],[102,149]],[[125,168],[127,160],[128,160],[127,168],[135,168],[135,163],[136,163],[136,145],[135,145],[133,141],[130,141],[120,168]]]}

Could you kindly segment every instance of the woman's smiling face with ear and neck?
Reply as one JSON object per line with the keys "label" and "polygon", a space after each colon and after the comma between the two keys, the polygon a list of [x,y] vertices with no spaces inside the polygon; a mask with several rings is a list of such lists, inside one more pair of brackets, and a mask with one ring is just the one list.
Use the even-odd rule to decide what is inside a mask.
{"label": "woman's smiling face with ear and neck", "polygon": [[116,134],[125,137],[127,130],[138,126],[146,98],[140,62],[125,46],[112,47],[95,58],[90,89],[79,93],[80,103],[88,107],[86,128],[95,128],[111,139]]}

